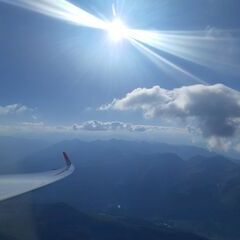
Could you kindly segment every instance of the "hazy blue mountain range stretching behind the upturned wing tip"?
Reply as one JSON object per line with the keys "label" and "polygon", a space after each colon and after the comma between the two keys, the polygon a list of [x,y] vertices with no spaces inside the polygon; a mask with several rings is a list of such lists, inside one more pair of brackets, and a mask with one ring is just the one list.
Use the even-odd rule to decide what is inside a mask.
{"label": "hazy blue mountain range stretching behind the upturned wing tip", "polygon": [[240,165],[229,158],[193,146],[71,140],[23,157],[18,170],[57,168],[62,151],[72,159],[74,174],[18,201],[60,201],[85,214],[167,223],[210,239],[240,239]]}

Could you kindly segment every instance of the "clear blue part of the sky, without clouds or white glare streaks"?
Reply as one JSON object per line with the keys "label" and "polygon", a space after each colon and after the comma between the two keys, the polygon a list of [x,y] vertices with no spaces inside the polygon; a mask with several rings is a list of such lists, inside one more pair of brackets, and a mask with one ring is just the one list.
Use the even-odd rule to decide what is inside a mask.
{"label": "clear blue part of the sky, without clouds or white glare streaks", "polygon": [[[211,60],[212,65],[209,62],[199,65],[162,50],[156,52],[194,74],[206,84],[222,83],[231,89],[239,90],[240,2],[238,0],[71,2],[106,20],[113,18],[114,3],[124,23],[134,29],[188,31],[188,34],[200,31],[201,34],[205,34],[204,36],[227,39],[224,40],[225,42],[217,40],[212,55],[208,52],[206,58],[204,58],[207,54],[204,53],[206,48],[203,48],[202,53],[198,50],[197,53],[203,54],[203,59]],[[137,88],[143,90],[159,86],[161,89],[171,91],[198,83],[171,69],[168,72],[163,71],[127,40],[113,43],[104,31],[70,24],[8,5],[4,1],[0,1],[0,36],[0,113],[1,109],[2,112],[5,109],[5,112],[0,114],[0,124],[2,129],[5,129],[5,135],[17,134],[19,126],[23,125],[30,126],[33,132],[40,131],[42,126],[57,126],[60,129],[73,124],[77,124],[81,129],[83,123],[92,120],[97,120],[103,125],[113,121],[133,124],[133,129],[130,131],[126,131],[126,126],[120,127],[117,132],[111,127],[108,132],[111,137],[121,136],[122,131],[126,131],[124,137],[131,138],[131,135],[134,135],[137,138],[135,128],[143,125],[148,128],[156,125],[172,127],[174,131],[176,128],[186,128],[185,119],[179,120],[179,116],[169,116],[169,113],[167,117],[145,116],[148,111],[142,109],[144,102],[141,102],[141,106],[136,109],[131,106],[120,110],[111,107],[104,111],[99,110],[99,107],[111,104],[115,98],[124,99],[126,94],[132,93]],[[174,43],[169,44],[170,47],[174,45]],[[187,49],[187,43],[185,45]],[[150,50],[155,51],[152,47]],[[224,67],[221,63],[224,63]],[[224,89],[223,92],[225,93],[226,90]],[[238,115],[234,117],[238,118]],[[190,116],[191,121],[192,118],[196,116]],[[188,121],[188,128],[191,121]],[[25,127],[21,128],[23,134]],[[105,124],[101,131],[105,131],[108,127]],[[199,139],[212,137],[205,136],[205,131],[199,127],[199,124],[193,124],[191,127],[197,128],[196,132],[200,129]],[[45,128],[46,132],[49,129],[50,127],[47,130]],[[97,138],[102,137],[95,131],[96,124],[91,130],[90,133],[86,131],[81,136],[96,134]],[[174,135],[172,132],[171,134]],[[153,131],[147,133],[151,140],[156,141],[162,141],[166,135],[169,135],[166,130],[161,134]],[[179,135],[180,142],[185,139],[184,136]],[[189,131],[186,136],[189,143],[196,139],[196,136],[189,137]],[[218,137],[229,140],[229,136]],[[236,141],[234,139],[234,143]]]}

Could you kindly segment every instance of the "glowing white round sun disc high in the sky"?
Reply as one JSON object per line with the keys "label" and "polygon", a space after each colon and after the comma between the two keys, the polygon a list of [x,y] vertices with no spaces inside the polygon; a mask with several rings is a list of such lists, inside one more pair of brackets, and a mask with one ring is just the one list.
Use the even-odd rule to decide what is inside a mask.
{"label": "glowing white round sun disc high in the sky", "polygon": [[128,29],[121,21],[121,19],[116,18],[108,25],[108,34],[113,42],[120,42],[128,35]]}

